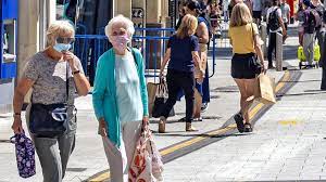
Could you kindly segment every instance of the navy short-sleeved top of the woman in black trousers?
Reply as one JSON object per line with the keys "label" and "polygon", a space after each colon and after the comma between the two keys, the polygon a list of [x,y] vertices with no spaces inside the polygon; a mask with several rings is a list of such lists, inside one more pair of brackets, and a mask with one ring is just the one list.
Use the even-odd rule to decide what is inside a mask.
{"label": "navy short-sleeved top of the woman in black trousers", "polygon": [[199,41],[196,36],[179,39],[176,35],[168,39],[167,48],[171,48],[171,58],[167,68],[191,73],[193,72],[192,51],[199,51]]}

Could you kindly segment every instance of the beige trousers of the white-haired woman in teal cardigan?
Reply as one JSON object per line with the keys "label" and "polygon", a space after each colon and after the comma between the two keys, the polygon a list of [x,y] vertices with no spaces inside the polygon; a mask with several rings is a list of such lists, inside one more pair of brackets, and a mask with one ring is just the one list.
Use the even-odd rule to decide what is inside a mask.
{"label": "beige trousers of the white-haired woman in teal cardigan", "polygon": [[[109,126],[110,127],[110,126]],[[136,142],[140,136],[141,121],[122,123],[122,142],[117,148],[109,138],[102,136],[104,152],[110,166],[111,181],[128,182]]]}

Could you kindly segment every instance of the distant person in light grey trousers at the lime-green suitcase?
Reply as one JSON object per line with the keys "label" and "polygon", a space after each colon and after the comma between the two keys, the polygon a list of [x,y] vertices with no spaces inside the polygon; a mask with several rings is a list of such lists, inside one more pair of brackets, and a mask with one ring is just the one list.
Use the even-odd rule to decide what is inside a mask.
{"label": "distant person in light grey trousers at the lime-green suitcase", "polygon": [[[309,65],[306,67],[313,67],[314,63],[314,42],[315,42],[315,28],[316,28],[316,18],[314,16],[314,13],[311,9],[311,1],[310,0],[303,0],[302,3],[303,8],[303,15],[304,15],[304,22],[302,24],[303,26],[303,53],[306,57],[306,61]],[[316,13],[317,14],[317,13]]]}

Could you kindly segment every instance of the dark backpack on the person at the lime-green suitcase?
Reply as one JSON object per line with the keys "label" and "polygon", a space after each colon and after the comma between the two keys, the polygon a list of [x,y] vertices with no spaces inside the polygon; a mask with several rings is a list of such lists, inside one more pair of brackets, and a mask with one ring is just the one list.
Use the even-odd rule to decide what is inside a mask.
{"label": "dark backpack on the person at the lime-green suitcase", "polygon": [[313,34],[317,27],[322,25],[322,18],[318,12],[314,9],[309,10],[305,13],[306,20],[306,31],[308,34]]}

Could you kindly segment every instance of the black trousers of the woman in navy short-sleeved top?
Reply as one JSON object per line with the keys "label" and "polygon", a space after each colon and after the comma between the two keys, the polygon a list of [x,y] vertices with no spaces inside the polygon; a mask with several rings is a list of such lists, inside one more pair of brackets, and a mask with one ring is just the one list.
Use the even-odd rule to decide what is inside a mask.
{"label": "black trousers of the woman in navy short-sleeved top", "polygon": [[180,89],[185,92],[186,98],[186,122],[192,121],[193,102],[195,102],[195,77],[193,73],[178,72],[167,69],[166,83],[168,90],[168,99],[165,102],[161,116],[165,118],[177,101],[177,95]]}

